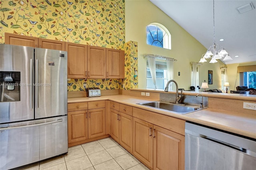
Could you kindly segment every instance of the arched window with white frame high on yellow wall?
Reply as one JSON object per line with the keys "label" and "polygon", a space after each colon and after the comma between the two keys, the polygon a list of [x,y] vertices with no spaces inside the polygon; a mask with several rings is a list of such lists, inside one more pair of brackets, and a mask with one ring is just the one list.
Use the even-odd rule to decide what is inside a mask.
{"label": "arched window with white frame high on yellow wall", "polygon": [[156,47],[171,49],[171,34],[159,23],[146,26],[147,44]]}

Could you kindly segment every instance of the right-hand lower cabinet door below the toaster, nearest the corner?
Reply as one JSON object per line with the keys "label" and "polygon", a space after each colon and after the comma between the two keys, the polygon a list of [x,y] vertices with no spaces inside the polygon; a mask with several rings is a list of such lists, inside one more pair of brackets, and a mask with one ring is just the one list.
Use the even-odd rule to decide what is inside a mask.
{"label": "right-hand lower cabinet door below the toaster, nearest the corner", "polygon": [[94,138],[106,134],[105,108],[90,109],[88,118],[88,136]]}

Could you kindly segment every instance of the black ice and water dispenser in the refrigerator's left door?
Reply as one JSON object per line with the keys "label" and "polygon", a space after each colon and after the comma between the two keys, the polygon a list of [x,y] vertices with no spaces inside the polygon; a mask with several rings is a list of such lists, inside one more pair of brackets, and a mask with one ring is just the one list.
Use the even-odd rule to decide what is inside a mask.
{"label": "black ice and water dispenser in the refrigerator's left door", "polygon": [[20,101],[20,72],[0,71],[0,102]]}

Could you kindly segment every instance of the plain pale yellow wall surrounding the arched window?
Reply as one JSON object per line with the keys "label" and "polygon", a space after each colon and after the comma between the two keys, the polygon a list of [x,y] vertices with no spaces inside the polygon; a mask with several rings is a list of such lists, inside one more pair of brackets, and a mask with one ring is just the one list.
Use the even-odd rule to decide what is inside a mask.
{"label": "plain pale yellow wall surrounding the arched window", "polygon": [[[138,42],[138,88],[146,89],[146,60],[143,54],[148,53],[177,59],[178,61],[174,62],[174,80],[178,82],[179,88],[189,89],[191,86],[190,62],[198,62],[206,52],[206,48],[149,0],[126,0],[125,8],[126,41]],[[146,44],[146,26],[154,22],[164,25],[169,30],[172,38],[171,50]],[[208,81],[208,70],[212,70],[213,84],[209,85],[209,89],[220,89],[220,67],[222,66],[224,64],[221,61],[213,64],[203,63],[199,67],[200,86],[202,81]],[[178,76],[179,71],[180,76]]]}

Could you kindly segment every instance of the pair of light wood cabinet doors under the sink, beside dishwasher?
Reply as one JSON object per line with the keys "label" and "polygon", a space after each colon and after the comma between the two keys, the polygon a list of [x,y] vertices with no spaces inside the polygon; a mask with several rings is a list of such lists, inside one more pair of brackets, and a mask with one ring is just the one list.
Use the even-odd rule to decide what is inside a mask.
{"label": "pair of light wood cabinet doors under the sink, beside dishwasher", "polygon": [[184,170],[185,136],[133,118],[133,154],[154,170]]}

